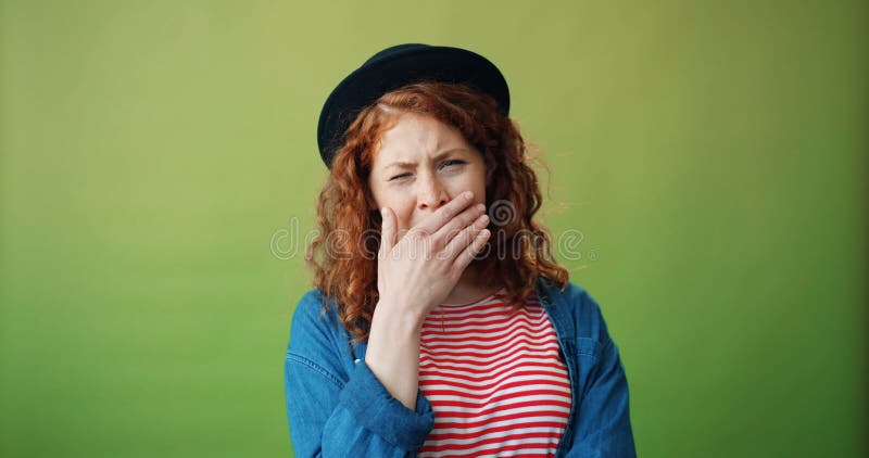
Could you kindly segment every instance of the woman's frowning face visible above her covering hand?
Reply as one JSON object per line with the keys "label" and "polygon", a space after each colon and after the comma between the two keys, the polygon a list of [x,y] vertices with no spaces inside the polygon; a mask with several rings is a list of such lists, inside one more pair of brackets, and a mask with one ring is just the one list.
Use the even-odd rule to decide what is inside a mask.
{"label": "woman's frowning face visible above her covering hand", "polygon": [[400,115],[375,151],[368,186],[378,208],[390,207],[407,230],[464,191],[486,203],[482,154],[455,128],[414,113]]}

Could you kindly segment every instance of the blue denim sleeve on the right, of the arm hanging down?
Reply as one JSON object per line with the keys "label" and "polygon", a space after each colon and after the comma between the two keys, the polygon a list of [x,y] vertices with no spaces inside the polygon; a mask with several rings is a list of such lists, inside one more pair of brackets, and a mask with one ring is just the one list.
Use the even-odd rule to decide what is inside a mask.
{"label": "blue denim sleeve on the right, of the arm hanging down", "polygon": [[585,319],[580,318],[580,321],[585,326],[580,325],[580,335],[588,338],[579,339],[579,357],[583,358],[580,365],[584,364],[588,371],[583,370],[585,380],[569,456],[633,458],[637,451],[630,421],[628,380],[618,346],[610,339],[594,300],[588,294],[583,294],[582,300]]}

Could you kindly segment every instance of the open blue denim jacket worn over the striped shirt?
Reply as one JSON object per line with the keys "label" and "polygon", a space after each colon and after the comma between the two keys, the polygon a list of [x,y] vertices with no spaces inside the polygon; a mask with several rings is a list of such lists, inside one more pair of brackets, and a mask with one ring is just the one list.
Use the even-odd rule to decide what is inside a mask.
{"label": "open blue denim jacket worn over the striped shirt", "polygon": [[[558,336],[570,376],[571,408],[556,457],[635,457],[628,381],[594,300],[574,283],[546,279],[538,296]],[[415,456],[434,422],[421,391],[411,410],[365,365],[366,344],[351,345],[335,303],[323,310],[306,293],[292,319],[285,364],[287,416],[300,457]]]}

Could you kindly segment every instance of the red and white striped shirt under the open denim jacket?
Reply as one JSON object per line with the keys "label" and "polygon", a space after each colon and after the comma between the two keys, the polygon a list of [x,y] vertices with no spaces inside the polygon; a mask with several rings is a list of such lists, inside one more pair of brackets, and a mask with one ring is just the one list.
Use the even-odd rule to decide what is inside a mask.
{"label": "red and white striped shirt under the open denim jacket", "polygon": [[553,456],[570,414],[570,382],[539,302],[513,307],[501,289],[442,304],[423,325],[419,387],[434,410],[420,457]]}

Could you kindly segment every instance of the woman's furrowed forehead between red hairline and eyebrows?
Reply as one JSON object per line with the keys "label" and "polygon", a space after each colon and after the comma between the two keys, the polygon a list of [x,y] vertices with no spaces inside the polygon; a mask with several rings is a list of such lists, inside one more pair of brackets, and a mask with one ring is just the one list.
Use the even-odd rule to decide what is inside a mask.
{"label": "woman's furrowed forehead between red hairline and eyebrows", "polygon": [[458,129],[415,113],[400,114],[380,136],[374,165],[392,161],[421,161],[445,150],[470,149]]}

